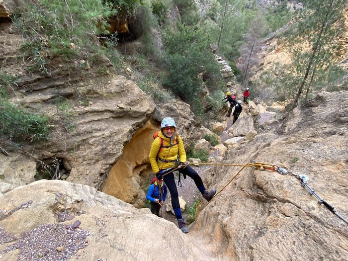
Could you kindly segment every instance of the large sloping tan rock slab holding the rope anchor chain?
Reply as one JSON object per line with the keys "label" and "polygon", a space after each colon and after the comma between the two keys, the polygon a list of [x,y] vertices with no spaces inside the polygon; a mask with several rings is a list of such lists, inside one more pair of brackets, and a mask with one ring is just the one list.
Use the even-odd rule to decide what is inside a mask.
{"label": "large sloping tan rock slab holding the rope anchor chain", "polygon": [[[348,92],[321,93],[225,158],[305,174],[347,219],[347,126]],[[317,204],[295,176],[247,167],[228,184],[240,169],[216,166],[205,173],[205,185],[218,193],[190,235],[213,235],[213,253],[230,260],[348,260],[348,224]]]}

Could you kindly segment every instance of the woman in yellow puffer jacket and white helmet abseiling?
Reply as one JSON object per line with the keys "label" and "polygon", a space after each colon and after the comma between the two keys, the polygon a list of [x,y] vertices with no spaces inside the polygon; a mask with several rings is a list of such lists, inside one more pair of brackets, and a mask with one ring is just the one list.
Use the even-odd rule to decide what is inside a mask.
{"label": "woman in yellow puffer jacket and white helmet abseiling", "polygon": [[[203,197],[210,201],[215,195],[216,190],[212,189],[210,192],[206,190],[201,177],[187,165],[186,152],[181,137],[176,134],[175,128],[176,125],[173,118],[167,117],[162,120],[161,131],[152,143],[149,155],[152,170],[158,178],[162,178],[162,175],[178,168],[179,173],[182,173],[184,177],[189,176],[194,180]],[[185,220],[181,215],[173,172],[164,175],[163,179],[171,192],[173,210],[178,226],[183,233],[188,233]]]}

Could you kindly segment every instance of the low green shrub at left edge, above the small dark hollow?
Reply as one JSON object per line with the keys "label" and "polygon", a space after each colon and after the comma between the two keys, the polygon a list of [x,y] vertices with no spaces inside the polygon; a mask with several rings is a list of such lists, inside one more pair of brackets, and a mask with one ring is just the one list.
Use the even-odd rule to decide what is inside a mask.
{"label": "low green shrub at left edge, above the small dark hollow", "polygon": [[46,116],[31,114],[0,99],[0,133],[14,142],[45,141],[49,127]]}

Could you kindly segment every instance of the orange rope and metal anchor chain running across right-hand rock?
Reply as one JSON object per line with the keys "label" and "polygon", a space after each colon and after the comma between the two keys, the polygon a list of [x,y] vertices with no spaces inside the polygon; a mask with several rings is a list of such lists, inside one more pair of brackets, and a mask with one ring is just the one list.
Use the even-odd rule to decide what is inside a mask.
{"label": "orange rope and metal anchor chain running across right-hand rock", "polygon": [[[221,192],[223,191],[231,182],[233,179],[235,179],[241,172],[242,170],[244,170],[244,168],[246,167],[251,167],[251,168],[255,168],[256,170],[260,170],[260,171],[265,171],[265,170],[272,170],[272,171],[276,171],[278,172],[279,174],[282,174],[282,175],[292,175],[292,176],[295,176],[297,179],[300,180],[301,182],[301,186],[302,187],[305,187],[308,191],[309,191],[309,194],[310,195],[313,195],[315,196],[317,199],[318,199],[318,204],[321,205],[323,204],[324,206],[326,206],[332,213],[334,213],[336,216],[338,216],[340,219],[342,219],[344,222],[346,222],[348,224],[348,220],[343,217],[342,215],[340,215],[335,209],[334,207],[329,204],[326,200],[324,200],[322,197],[320,197],[315,191],[313,188],[311,188],[308,184],[307,184],[307,181],[309,180],[309,177],[307,175],[304,175],[304,174],[301,174],[301,175],[298,175],[298,174],[293,174],[292,172],[288,172],[286,169],[284,168],[280,168],[276,165],[271,165],[271,164],[268,164],[268,163],[260,163],[260,162],[256,162],[254,161],[253,163],[248,163],[248,164],[245,164],[245,165],[240,165],[240,164],[227,164],[227,163],[192,163],[194,165],[212,165],[212,166],[238,166],[238,167],[242,167],[239,172],[234,175],[234,177],[232,177],[232,179],[219,191],[217,192],[213,198],[208,202],[208,204],[210,202],[213,201],[213,199]],[[173,170],[174,171],[174,170]],[[207,204],[207,205],[208,205]],[[207,206],[206,205],[206,206]]]}

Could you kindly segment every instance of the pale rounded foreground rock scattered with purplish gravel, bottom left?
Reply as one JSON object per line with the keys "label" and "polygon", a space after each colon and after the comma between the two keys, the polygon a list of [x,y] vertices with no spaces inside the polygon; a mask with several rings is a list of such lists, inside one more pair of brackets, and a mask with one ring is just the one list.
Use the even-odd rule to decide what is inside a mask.
{"label": "pale rounded foreground rock scattered with purplish gravel, bottom left", "polygon": [[[34,231],[42,224],[53,227],[80,222],[79,229],[87,232],[83,239],[87,247],[70,260],[163,259],[163,251],[154,251],[155,246],[165,248],[168,260],[218,260],[209,253],[206,242],[184,235],[173,222],[158,218],[148,208],[137,209],[87,185],[59,180],[36,181],[0,196],[0,210],[0,252],[17,243],[23,233]],[[11,242],[4,243],[8,241],[6,235],[17,240],[12,237],[9,238]],[[62,245],[65,249],[74,247],[71,246],[73,238],[51,246],[56,239],[42,238],[40,233],[31,235],[30,243],[35,247],[28,249],[27,244],[22,244],[17,250],[2,253],[1,259],[17,260],[20,253],[34,251],[44,244],[45,250],[54,248],[56,257],[48,259],[45,255],[47,260],[62,260],[55,249]],[[63,233],[58,234],[57,240],[64,237]],[[40,259],[39,256],[32,258]]]}

